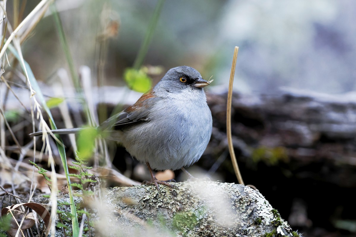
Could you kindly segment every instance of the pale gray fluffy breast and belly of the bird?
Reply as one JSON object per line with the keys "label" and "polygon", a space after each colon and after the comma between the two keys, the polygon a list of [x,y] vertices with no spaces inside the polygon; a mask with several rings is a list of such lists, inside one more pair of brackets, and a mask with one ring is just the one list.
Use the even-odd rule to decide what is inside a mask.
{"label": "pale gray fluffy breast and belly of the bird", "polygon": [[[205,98],[204,98],[205,99]],[[211,136],[211,112],[204,101],[162,101],[152,108],[150,121],[123,130],[123,145],[137,160],[156,170],[192,165]]]}

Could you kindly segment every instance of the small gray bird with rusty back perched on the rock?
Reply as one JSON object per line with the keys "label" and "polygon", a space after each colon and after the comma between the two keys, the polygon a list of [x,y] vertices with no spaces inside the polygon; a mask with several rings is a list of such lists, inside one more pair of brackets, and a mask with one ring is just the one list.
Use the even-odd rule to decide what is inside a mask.
{"label": "small gray bird with rusty back perched on the rock", "polygon": [[[197,162],[211,137],[213,120],[206,103],[206,81],[189,66],[169,69],[162,79],[136,103],[103,122],[98,129],[125,147],[141,163],[146,163],[151,182],[177,188],[160,181],[154,170],[177,170]],[[83,128],[56,129],[54,134],[77,133]],[[41,135],[35,132],[31,136]]]}

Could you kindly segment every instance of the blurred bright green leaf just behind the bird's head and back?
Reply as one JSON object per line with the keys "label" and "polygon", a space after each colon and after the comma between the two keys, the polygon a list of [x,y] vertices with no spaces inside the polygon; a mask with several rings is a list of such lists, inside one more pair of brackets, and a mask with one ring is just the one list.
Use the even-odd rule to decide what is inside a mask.
{"label": "blurred bright green leaf just behind the bird's head and back", "polygon": [[152,80],[143,70],[127,68],[124,72],[127,86],[134,91],[147,92],[151,89]]}

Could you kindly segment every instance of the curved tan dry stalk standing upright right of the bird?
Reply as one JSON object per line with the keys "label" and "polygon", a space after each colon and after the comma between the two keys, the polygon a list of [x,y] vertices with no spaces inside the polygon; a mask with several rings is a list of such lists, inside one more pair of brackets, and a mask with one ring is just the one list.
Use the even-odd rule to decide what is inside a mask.
{"label": "curved tan dry stalk standing upright right of the bird", "polygon": [[234,58],[232,59],[231,73],[230,73],[230,82],[229,82],[229,91],[227,92],[227,108],[226,108],[226,135],[227,143],[229,146],[229,152],[231,157],[232,166],[234,166],[235,175],[237,181],[240,184],[244,184],[242,176],[240,173],[239,165],[237,165],[236,156],[234,152],[234,145],[232,144],[232,135],[231,135],[231,104],[232,104],[232,84],[234,83],[235,67],[237,60],[237,53],[239,52],[239,47],[235,47]]}

